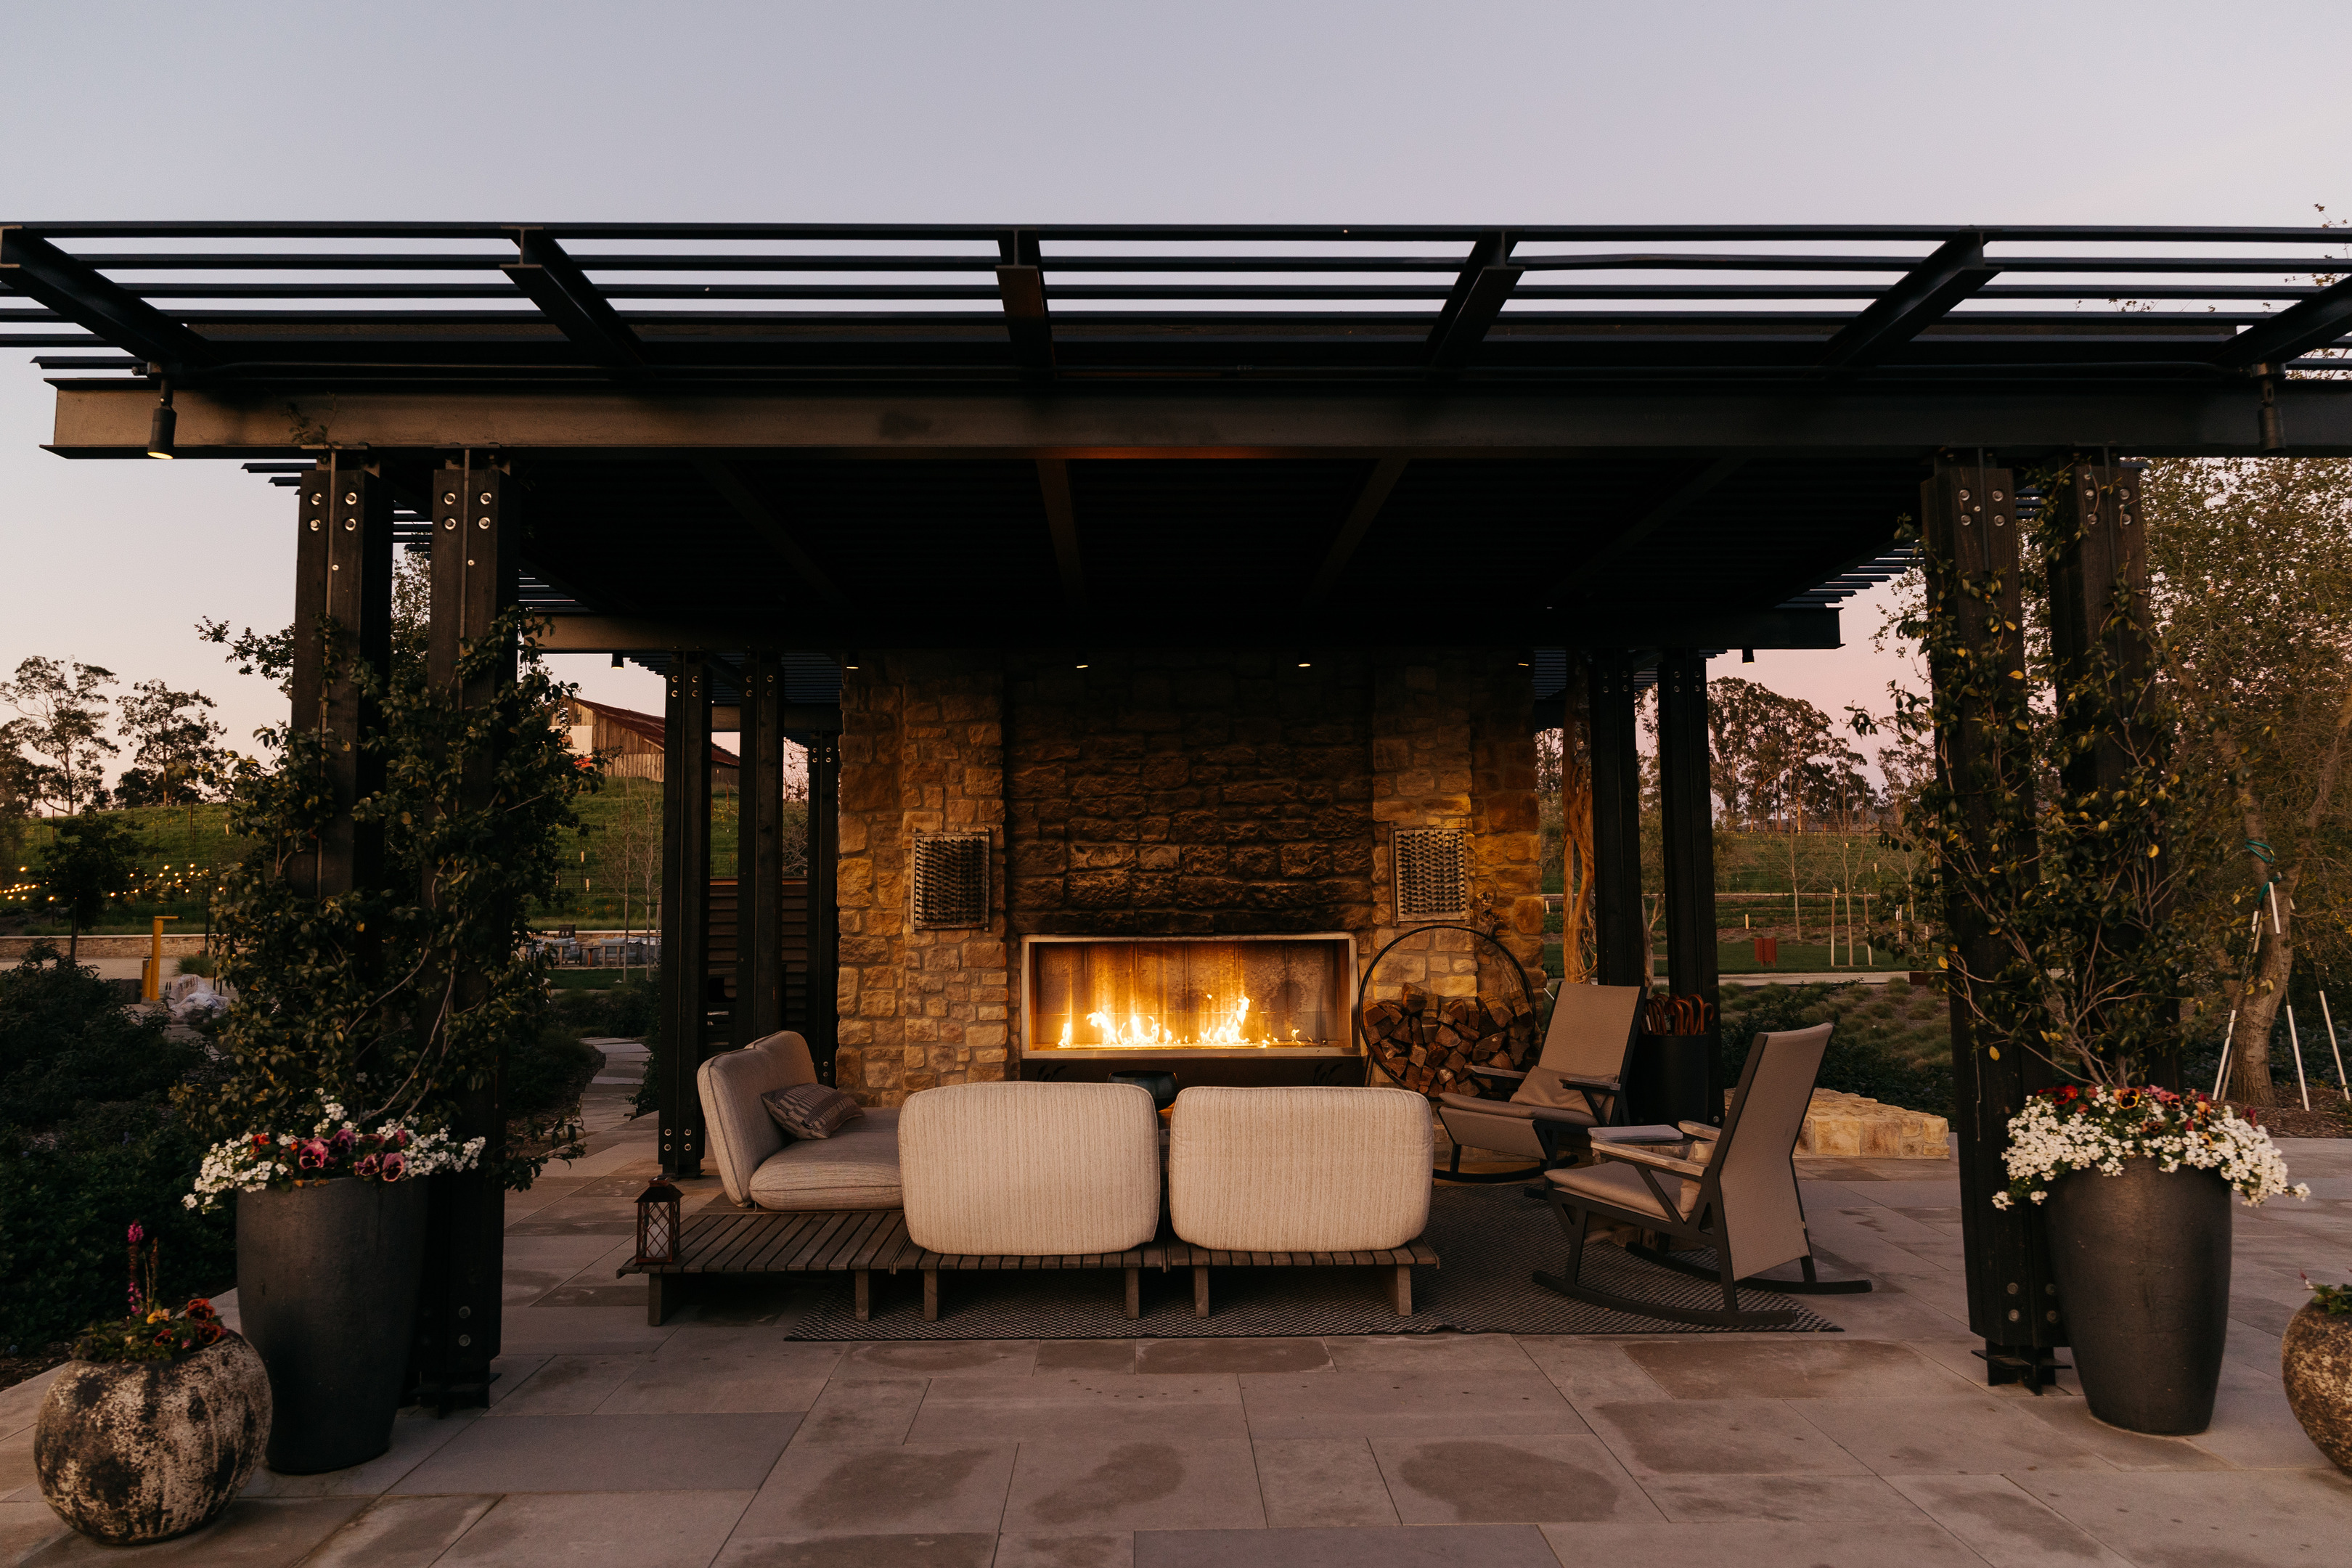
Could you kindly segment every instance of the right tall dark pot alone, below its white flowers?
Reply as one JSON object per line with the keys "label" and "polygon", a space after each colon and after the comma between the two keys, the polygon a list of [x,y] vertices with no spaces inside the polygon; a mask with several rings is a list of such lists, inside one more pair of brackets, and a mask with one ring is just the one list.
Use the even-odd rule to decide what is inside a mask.
{"label": "right tall dark pot alone, below its white flowers", "polygon": [[2213,1422],[2230,1328],[2230,1187],[2211,1171],[2077,1171],[2044,1215],[2074,1375],[2110,1427],[2185,1436]]}

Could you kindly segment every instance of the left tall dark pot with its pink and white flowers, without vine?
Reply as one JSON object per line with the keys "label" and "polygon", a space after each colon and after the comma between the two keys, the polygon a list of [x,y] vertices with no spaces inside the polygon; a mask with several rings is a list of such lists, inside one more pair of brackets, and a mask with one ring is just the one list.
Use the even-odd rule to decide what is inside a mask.
{"label": "left tall dark pot with its pink and white flowers, without vine", "polygon": [[343,1469],[393,1446],[423,1178],[470,1171],[482,1145],[397,1121],[360,1131],[329,1103],[308,1133],[245,1133],[205,1157],[186,1204],[238,1194],[238,1316],[275,1394],[270,1469]]}

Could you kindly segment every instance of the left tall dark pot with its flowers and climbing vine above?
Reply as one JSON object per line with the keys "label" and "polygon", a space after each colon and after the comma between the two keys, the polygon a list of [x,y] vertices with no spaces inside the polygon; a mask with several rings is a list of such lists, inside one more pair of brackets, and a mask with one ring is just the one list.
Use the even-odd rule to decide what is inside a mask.
{"label": "left tall dark pot with its flowers and climbing vine above", "polygon": [[[508,1154],[499,1105],[508,1051],[548,1013],[529,907],[557,886],[574,802],[597,783],[553,729],[567,689],[536,658],[517,672],[524,630],[508,611],[435,677],[421,637],[372,670],[332,621],[318,628],[329,675],[374,715],[358,736],[369,769],[348,806],[350,886],[318,886],[320,846],[353,827],[334,743],[280,726],[278,766],[235,771],[230,825],[252,851],[214,900],[235,1001],[223,1072],[183,1098],[214,1140],[188,1201],[235,1194],[238,1307],[278,1396],[270,1469],[341,1469],[390,1443],[423,1274],[421,1178],[527,1187],[576,1135],[555,1117]],[[480,1349],[496,1354],[494,1335]]]}

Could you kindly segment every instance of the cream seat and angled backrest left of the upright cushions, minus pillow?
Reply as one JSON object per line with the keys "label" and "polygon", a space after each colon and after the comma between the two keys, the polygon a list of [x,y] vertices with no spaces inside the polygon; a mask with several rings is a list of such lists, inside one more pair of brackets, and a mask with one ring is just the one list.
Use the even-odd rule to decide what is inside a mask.
{"label": "cream seat and angled backrest left of the upright cushions, minus pillow", "polygon": [[[746,1208],[898,1208],[898,1112],[866,1107],[833,1138],[786,1138],[760,1095],[814,1084],[809,1041],[783,1030],[694,1074],[727,1197]],[[1150,1095],[1145,1095],[1150,1098]]]}

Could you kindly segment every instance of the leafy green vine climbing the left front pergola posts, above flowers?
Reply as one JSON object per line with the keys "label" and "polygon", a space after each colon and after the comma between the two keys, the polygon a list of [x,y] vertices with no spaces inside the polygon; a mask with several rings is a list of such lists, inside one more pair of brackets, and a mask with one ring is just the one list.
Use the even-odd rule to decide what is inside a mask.
{"label": "leafy green vine climbing the left front pergola posts, above flowers", "polygon": [[[546,1027],[527,917],[555,891],[562,839],[581,827],[574,804],[600,776],[555,726],[572,689],[546,672],[529,630],[506,611],[461,649],[454,679],[433,682],[421,658],[372,670],[325,625],[329,677],[355,679],[379,715],[360,745],[383,783],[353,806],[383,844],[369,886],[313,898],[296,884],[334,816],[327,741],[282,726],[268,736],[278,766],[238,766],[230,827],[254,849],[214,903],[238,999],[219,1032],[223,1079],[191,1091],[219,1135],[308,1124],[325,1103],[360,1126],[447,1126],[492,1086],[503,1051]],[[485,696],[461,701],[468,686]],[[510,1157],[510,1187],[579,1135],[572,1124],[517,1131],[524,1147],[555,1147]]]}

